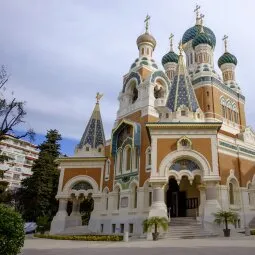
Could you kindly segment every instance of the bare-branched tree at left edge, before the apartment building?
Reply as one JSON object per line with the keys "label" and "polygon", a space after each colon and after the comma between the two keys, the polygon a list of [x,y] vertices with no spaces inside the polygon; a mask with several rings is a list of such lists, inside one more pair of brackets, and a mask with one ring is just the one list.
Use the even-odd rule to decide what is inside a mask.
{"label": "bare-branched tree at left edge, before the apartment building", "polygon": [[[9,97],[5,95],[8,80],[6,68],[0,67],[0,142],[6,139],[8,134],[12,134],[18,139],[28,136],[33,140],[34,131],[32,129],[28,129],[21,135],[15,133],[15,129],[25,123],[27,112],[25,111],[25,102],[18,101],[13,97],[13,93]],[[0,150],[0,164],[3,165],[9,159],[8,156],[2,155]],[[11,199],[11,193],[6,191],[9,183],[3,180],[4,173],[8,170],[0,167],[0,202],[8,202]]]}

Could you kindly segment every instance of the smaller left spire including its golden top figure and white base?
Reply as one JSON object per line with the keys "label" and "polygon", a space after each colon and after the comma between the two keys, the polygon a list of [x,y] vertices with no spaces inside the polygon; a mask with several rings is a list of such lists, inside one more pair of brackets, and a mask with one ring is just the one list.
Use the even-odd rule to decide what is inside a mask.
{"label": "smaller left spire including its golden top figure and white base", "polygon": [[102,96],[103,94],[99,93],[96,95],[96,105],[82,135],[81,141],[77,146],[77,150],[83,150],[84,147],[86,147],[85,150],[83,150],[84,152],[101,152],[101,150],[103,150],[105,135],[99,107],[99,101]]}

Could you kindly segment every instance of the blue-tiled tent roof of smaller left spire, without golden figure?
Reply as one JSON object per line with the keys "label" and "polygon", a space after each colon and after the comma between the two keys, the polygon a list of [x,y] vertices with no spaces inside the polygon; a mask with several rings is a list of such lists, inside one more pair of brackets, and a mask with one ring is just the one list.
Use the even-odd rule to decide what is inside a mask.
{"label": "blue-tiled tent roof of smaller left spire, without golden figure", "polygon": [[98,102],[95,105],[81,141],[78,144],[78,148],[81,149],[86,144],[89,144],[91,148],[97,148],[99,145],[105,145],[104,127]]}

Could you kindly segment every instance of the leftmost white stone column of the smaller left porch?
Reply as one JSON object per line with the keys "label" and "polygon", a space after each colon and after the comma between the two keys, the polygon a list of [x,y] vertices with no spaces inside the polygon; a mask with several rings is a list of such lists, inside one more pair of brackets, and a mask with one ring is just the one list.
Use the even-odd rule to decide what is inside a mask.
{"label": "leftmost white stone column of the smaller left porch", "polygon": [[50,234],[58,234],[65,230],[68,217],[66,211],[67,201],[66,198],[59,199],[58,212],[51,222]]}

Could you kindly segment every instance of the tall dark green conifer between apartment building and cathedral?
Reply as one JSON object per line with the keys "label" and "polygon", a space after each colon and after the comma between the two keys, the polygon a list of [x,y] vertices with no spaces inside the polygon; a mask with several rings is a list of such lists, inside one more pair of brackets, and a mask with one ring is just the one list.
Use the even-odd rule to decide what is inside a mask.
{"label": "tall dark green conifer between apartment building and cathedral", "polygon": [[39,145],[39,156],[32,167],[32,175],[22,181],[18,194],[18,208],[24,219],[36,221],[40,216],[55,215],[58,209],[55,196],[58,190],[59,170],[56,159],[60,155],[61,135],[49,130],[46,140]]}

